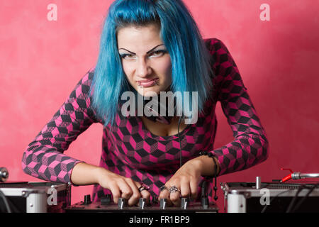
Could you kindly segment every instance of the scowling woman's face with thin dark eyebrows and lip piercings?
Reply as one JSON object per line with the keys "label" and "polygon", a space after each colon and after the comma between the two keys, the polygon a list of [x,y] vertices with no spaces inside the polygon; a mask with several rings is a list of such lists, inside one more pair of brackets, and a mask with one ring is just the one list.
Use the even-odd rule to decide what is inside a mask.
{"label": "scowling woman's face with thin dark eyebrows and lip piercings", "polygon": [[118,53],[130,85],[142,96],[164,92],[172,84],[172,62],[155,25],[118,30]]}

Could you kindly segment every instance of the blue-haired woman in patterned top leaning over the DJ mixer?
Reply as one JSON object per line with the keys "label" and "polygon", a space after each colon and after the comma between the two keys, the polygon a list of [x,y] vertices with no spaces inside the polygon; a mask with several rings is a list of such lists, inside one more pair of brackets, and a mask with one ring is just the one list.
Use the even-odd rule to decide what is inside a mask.
{"label": "blue-haired woman in patterned top leaning over the DJ mixer", "polygon": [[[142,106],[131,100],[136,105],[123,111],[127,92],[145,98]],[[160,116],[145,114],[145,100],[161,92],[190,98],[164,104]],[[234,140],[214,149],[217,101]],[[104,126],[99,166],[63,154],[92,123]],[[130,206],[155,196],[178,205],[181,197],[198,199],[204,176],[245,170],[267,156],[264,128],[225,45],[203,40],[181,0],[117,0],[96,66],[28,145],[22,165],[40,179],[95,184],[94,201],[111,192],[114,202],[123,197]]]}

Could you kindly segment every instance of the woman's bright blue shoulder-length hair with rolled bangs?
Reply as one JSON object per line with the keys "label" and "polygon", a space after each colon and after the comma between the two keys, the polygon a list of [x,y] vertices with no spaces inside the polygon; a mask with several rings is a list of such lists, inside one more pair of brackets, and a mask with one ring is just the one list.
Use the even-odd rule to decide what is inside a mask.
{"label": "woman's bright blue shoulder-length hair with rolled bangs", "polygon": [[[127,26],[156,24],[172,62],[172,92],[198,92],[198,112],[213,89],[210,56],[194,18],[181,0],[116,0],[103,24],[99,57],[91,91],[92,106],[104,119],[115,122],[121,95],[130,90],[118,54],[116,33]],[[191,106],[191,97],[190,97]]]}

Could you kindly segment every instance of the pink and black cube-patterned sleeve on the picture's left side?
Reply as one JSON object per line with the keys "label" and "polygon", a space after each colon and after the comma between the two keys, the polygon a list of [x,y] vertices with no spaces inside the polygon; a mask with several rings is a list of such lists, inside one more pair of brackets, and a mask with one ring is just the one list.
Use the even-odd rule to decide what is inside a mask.
{"label": "pink and black cube-patterned sleeve on the picture's left side", "polygon": [[26,174],[51,182],[71,182],[72,169],[81,161],[63,153],[80,133],[96,122],[90,107],[90,71],[24,151],[22,168]]}

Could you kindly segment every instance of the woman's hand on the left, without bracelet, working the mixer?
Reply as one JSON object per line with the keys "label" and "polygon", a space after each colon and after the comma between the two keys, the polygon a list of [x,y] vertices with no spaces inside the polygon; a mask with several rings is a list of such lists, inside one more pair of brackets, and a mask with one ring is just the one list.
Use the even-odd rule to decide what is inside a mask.
{"label": "woman's hand on the left, without bracelet, working the mixer", "polygon": [[129,177],[117,175],[102,167],[96,176],[97,182],[104,189],[109,189],[113,195],[114,203],[118,203],[118,198],[125,198],[128,201],[128,206],[138,204],[140,198],[145,198],[147,203],[150,202],[150,192],[138,188],[142,186],[140,182],[135,182]]}

